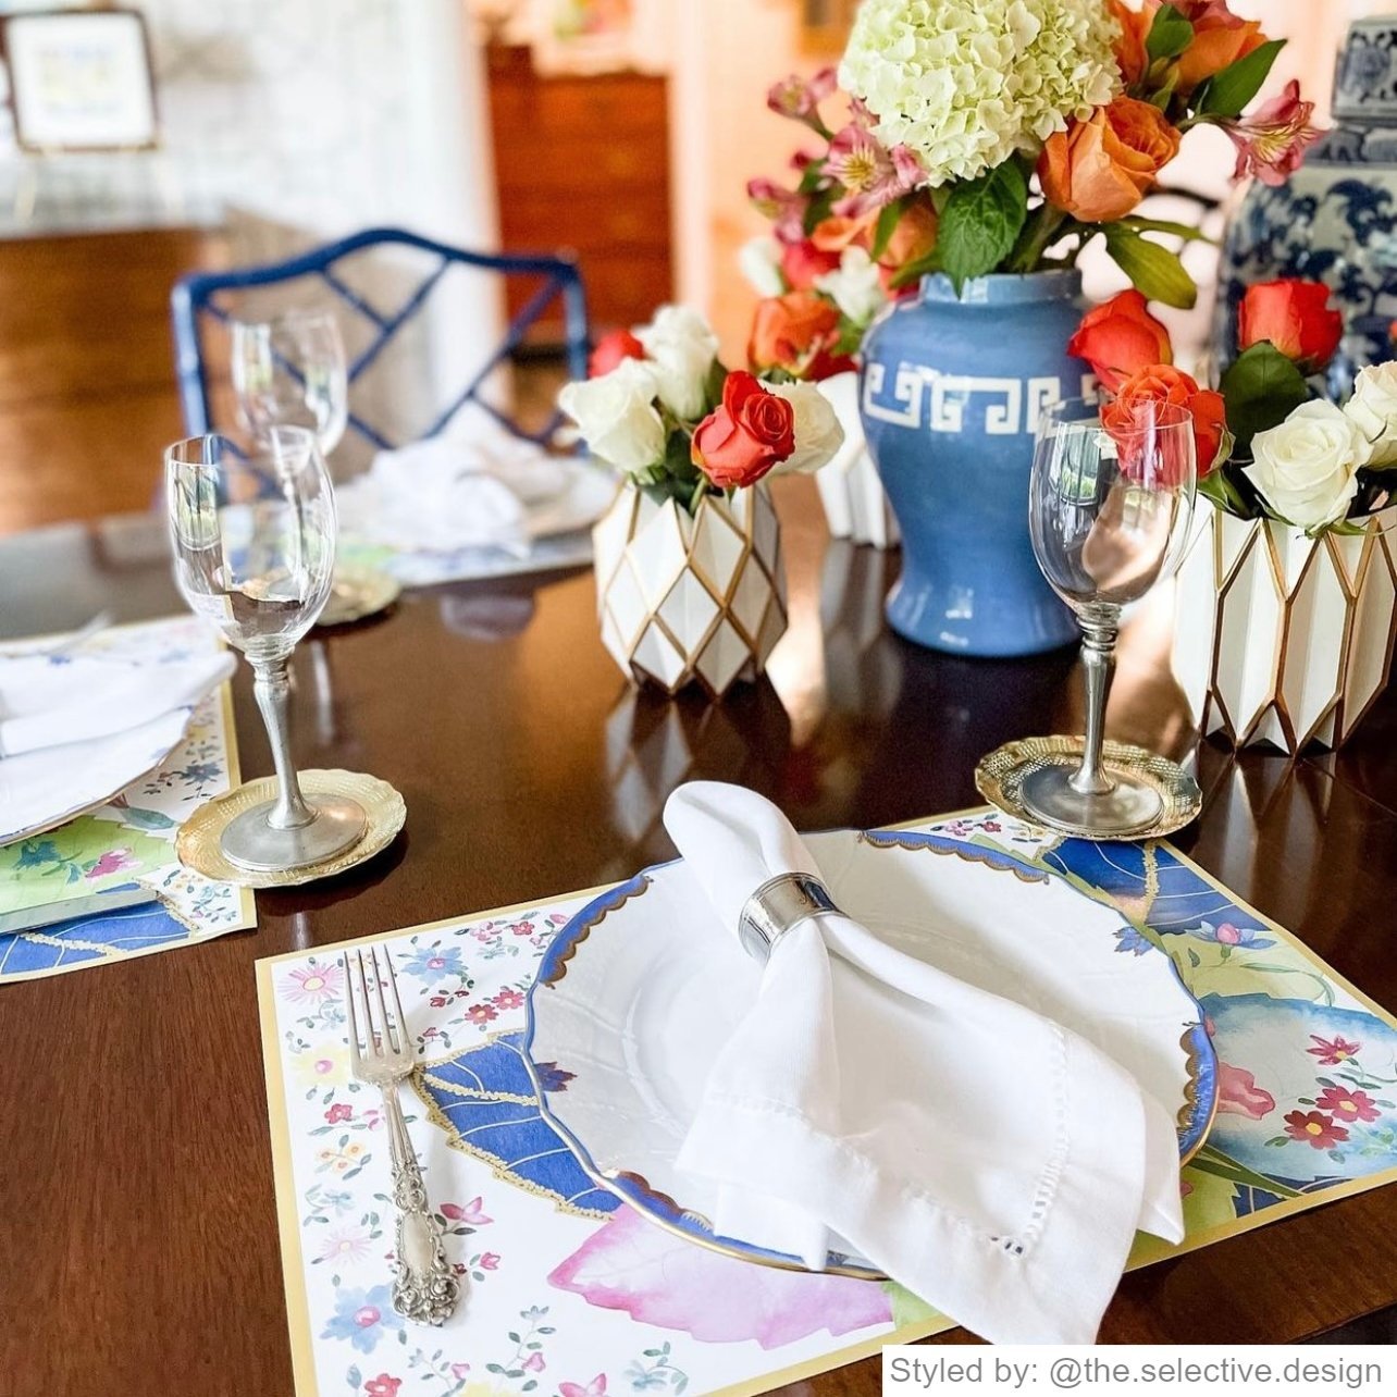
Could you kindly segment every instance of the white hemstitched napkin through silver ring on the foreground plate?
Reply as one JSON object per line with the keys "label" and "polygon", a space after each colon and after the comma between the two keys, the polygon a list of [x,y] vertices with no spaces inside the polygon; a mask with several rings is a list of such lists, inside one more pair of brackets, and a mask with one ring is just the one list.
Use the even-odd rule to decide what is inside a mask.
{"label": "white hemstitched napkin through silver ring on the foreground plate", "polygon": [[[820,877],[750,791],[680,787],[665,826],[728,935],[770,877]],[[719,1235],[856,1252],[993,1343],[1091,1343],[1137,1224],[1183,1236],[1173,1126],[1129,1073],[840,914],[778,942],[678,1164]]]}

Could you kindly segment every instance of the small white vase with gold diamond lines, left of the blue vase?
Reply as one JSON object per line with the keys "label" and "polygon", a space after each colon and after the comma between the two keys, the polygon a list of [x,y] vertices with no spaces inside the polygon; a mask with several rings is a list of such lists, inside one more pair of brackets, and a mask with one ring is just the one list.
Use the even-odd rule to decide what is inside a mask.
{"label": "small white vase with gold diamond lines, left of the blue vase", "polygon": [[592,529],[602,641],[636,683],[721,698],[787,629],[781,528],[764,485],[690,514],[631,485]]}

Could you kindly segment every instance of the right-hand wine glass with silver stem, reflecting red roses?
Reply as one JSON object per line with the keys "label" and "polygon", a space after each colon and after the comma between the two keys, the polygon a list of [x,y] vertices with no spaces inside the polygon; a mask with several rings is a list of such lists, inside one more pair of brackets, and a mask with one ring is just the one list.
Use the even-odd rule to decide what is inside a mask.
{"label": "right-hand wine glass with silver stem, reflecting red roses", "polygon": [[1025,775],[1020,799],[1042,824],[1116,837],[1148,828],[1162,812],[1154,787],[1102,760],[1106,696],[1120,608],[1178,569],[1196,489],[1185,408],[1078,398],[1044,414],[1028,525],[1038,566],[1081,624],[1087,736],[1076,770],[1049,764]]}

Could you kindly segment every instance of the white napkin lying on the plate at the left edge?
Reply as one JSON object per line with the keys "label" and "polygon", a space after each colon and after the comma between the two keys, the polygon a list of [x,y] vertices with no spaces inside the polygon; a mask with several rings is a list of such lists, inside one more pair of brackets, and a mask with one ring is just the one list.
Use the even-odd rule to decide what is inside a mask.
{"label": "white napkin lying on the plate at the left edge", "polygon": [[191,708],[235,669],[226,651],[159,665],[99,655],[0,655],[0,757],[109,738]]}

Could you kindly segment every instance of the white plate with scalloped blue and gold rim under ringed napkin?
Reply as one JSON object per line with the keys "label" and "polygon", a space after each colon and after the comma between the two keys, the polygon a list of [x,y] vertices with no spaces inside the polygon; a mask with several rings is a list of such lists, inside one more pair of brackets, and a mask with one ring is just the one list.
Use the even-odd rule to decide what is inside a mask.
{"label": "white plate with scalloped blue and gold rim under ringed napkin", "polygon": [[[1097,1044],[1175,1113],[1180,1158],[1217,1108],[1217,1059],[1173,963],[1119,909],[1042,865],[936,834],[809,835],[841,908],[884,940]],[[837,870],[837,873],[835,873]],[[1044,884],[1031,897],[1024,883]],[[563,928],[529,992],[524,1060],[585,1172],[692,1241],[767,1266],[798,1257],[714,1235],[711,1187],[675,1168],[708,1071],[760,967],[682,863],[604,893]],[[877,1278],[858,1256],[828,1270]]]}

